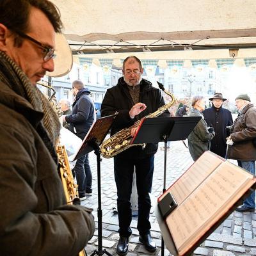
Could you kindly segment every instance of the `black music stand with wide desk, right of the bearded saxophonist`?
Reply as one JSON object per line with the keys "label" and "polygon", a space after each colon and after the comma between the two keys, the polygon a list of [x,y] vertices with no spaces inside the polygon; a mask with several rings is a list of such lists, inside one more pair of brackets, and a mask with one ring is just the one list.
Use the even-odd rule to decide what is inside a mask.
{"label": "black music stand with wide desk, right of the bearded saxophonist", "polygon": [[[166,156],[167,141],[186,140],[200,116],[186,117],[158,117],[145,118],[136,132],[132,144],[158,143],[164,141],[164,184],[163,193],[166,191]],[[161,255],[164,255],[164,240],[162,237]]]}

